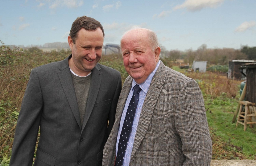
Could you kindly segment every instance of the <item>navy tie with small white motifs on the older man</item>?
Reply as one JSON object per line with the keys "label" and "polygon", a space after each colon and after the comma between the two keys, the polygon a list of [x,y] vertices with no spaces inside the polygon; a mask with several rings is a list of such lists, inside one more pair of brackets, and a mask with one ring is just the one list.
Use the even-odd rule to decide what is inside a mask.
{"label": "navy tie with small white motifs on the older man", "polygon": [[125,115],[125,119],[124,119],[124,124],[123,124],[122,131],[120,134],[115,166],[123,165],[123,159],[124,159],[124,155],[126,152],[127,143],[128,143],[129,137],[130,137],[132,124],[133,124],[133,120],[134,120],[134,116],[135,116],[135,111],[137,109],[138,102],[139,102],[140,90],[141,90],[141,88],[139,87],[139,85],[134,86],[133,96],[128,105],[128,109],[126,111],[126,115]]}

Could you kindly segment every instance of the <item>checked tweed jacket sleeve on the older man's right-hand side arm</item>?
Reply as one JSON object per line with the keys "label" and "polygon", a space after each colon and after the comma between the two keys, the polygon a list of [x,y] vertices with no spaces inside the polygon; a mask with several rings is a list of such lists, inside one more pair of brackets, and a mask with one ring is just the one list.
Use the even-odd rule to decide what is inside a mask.
{"label": "checked tweed jacket sleeve on the older man's right-hand side arm", "polygon": [[175,113],[175,128],[182,141],[184,166],[210,165],[212,141],[204,108],[204,99],[196,81],[181,85]]}

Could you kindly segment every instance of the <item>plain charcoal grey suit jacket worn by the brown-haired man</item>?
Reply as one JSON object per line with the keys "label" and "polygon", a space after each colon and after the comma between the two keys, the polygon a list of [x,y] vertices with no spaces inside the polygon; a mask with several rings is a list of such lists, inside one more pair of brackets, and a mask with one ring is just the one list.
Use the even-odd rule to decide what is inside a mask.
{"label": "plain charcoal grey suit jacket worn by the brown-haired man", "polygon": [[32,165],[39,126],[34,166],[101,165],[102,151],[114,124],[121,75],[104,65],[95,66],[81,125],[68,58],[32,69],[10,166]]}

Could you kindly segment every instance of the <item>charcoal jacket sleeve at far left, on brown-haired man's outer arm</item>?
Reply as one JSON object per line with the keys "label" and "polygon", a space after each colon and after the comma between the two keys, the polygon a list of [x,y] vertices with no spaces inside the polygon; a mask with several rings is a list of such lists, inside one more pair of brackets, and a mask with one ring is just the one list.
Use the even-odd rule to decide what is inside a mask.
{"label": "charcoal jacket sleeve at far left, on brown-haired man's outer arm", "polygon": [[15,129],[10,166],[32,166],[42,108],[39,77],[32,69]]}

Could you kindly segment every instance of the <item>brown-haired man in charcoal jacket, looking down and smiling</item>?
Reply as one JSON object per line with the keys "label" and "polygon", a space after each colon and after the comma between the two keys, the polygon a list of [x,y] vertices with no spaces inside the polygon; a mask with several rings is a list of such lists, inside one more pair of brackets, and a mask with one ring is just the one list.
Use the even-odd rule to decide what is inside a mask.
{"label": "brown-haired man in charcoal jacket, looking down and smiling", "polygon": [[[118,71],[98,64],[104,30],[77,18],[63,61],[32,69],[14,136],[10,166],[101,166],[121,91]],[[108,123],[109,121],[109,123]]]}

